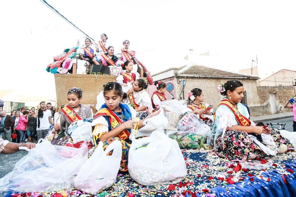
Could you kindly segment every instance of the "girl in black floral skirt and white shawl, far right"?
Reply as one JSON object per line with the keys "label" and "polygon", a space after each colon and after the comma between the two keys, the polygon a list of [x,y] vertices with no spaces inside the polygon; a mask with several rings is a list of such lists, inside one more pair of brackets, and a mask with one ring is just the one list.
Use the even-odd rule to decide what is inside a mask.
{"label": "girl in black floral skirt and white shawl, far right", "polygon": [[[225,97],[216,108],[215,124],[208,143],[214,146],[220,157],[245,161],[267,155],[274,156],[287,150],[294,151],[289,140],[281,136],[278,130],[255,126],[247,118],[247,108],[241,103],[244,97],[241,82],[231,79],[220,84],[218,91]],[[254,135],[261,135],[262,142]]]}

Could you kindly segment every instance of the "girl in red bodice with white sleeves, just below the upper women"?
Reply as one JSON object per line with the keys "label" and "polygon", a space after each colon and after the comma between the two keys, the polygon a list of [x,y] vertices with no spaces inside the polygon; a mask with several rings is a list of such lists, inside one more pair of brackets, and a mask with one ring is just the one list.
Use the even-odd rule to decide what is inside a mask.
{"label": "girl in red bodice with white sleeves, just below the upper women", "polygon": [[133,63],[130,61],[124,62],[124,64],[121,65],[123,70],[126,70],[123,74],[119,75],[116,78],[117,83],[122,85],[123,87],[127,86],[127,83],[129,82],[135,82],[137,79],[139,79],[139,73],[131,73],[133,71]]}

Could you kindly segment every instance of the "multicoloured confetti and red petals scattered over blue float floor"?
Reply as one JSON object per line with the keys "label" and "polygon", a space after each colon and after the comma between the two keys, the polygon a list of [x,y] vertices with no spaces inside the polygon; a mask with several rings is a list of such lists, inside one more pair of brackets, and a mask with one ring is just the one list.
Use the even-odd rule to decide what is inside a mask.
{"label": "multicoloured confetti and red petals scattered over blue float floor", "polygon": [[[244,163],[230,162],[229,160],[218,157],[213,150],[188,149],[182,150],[186,162],[188,174],[187,177],[178,184],[143,186],[131,179],[129,174],[118,174],[116,183],[96,195],[89,195],[77,191],[74,186],[62,191],[53,191],[45,193],[12,193],[11,196],[25,197],[95,197],[95,196],[171,196],[171,197],[195,197],[195,196],[216,196],[212,188],[220,186],[226,188],[229,193],[234,191],[233,185],[236,183],[239,187],[244,187],[259,179],[276,181],[276,178],[266,177],[266,174],[276,170],[282,175],[286,183],[287,175],[296,173],[296,168],[285,166],[286,163],[296,162],[296,152],[287,152],[278,154],[275,157],[266,157],[253,162],[253,165],[259,165],[260,170],[251,170],[244,168]],[[252,163],[252,162],[250,162]],[[272,163],[272,165],[268,165]],[[262,166],[260,166],[262,165]],[[258,166],[257,166],[258,167]],[[256,166],[254,166],[256,168]],[[293,168],[293,169],[291,169]],[[248,180],[248,181],[246,181]],[[211,191],[212,189],[212,191]],[[6,196],[10,196],[9,194]]]}

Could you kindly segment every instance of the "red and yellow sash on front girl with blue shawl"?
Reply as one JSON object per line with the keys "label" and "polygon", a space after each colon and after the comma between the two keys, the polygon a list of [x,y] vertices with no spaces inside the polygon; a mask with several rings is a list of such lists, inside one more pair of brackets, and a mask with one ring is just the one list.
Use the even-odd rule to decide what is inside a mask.
{"label": "red and yellow sash on front girl with blue shawl", "polygon": [[[111,129],[115,129],[116,127],[118,127],[119,125],[122,124],[122,121],[118,118],[118,116],[110,109],[107,108],[102,108],[100,109],[96,115],[94,116],[94,119],[98,116],[108,116],[109,119],[109,123],[111,126]],[[117,137],[119,137],[122,140],[126,140],[128,139],[128,137],[130,136],[130,133],[128,132],[128,130],[124,130],[122,131]]]}

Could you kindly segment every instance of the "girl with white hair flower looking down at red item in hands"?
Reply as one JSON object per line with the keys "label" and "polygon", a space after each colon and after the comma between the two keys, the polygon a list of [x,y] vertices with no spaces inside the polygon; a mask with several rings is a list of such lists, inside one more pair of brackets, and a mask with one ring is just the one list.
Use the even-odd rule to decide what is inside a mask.
{"label": "girl with white hair flower looking down at red item in hands", "polygon": [[199,88],[192,89],[188,94],[188,106],[190,110],[198,110],[202,111],[202,114],[200,114],[200,119],[205,121],[205,124],[207,124],[211,129],[214,125],[213,121],[213,108],[211,110],[206,110],[209,104],[202,103],[204,101],[205,94],[203,91]]}

